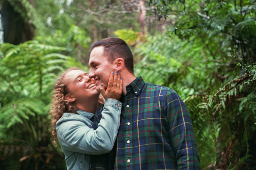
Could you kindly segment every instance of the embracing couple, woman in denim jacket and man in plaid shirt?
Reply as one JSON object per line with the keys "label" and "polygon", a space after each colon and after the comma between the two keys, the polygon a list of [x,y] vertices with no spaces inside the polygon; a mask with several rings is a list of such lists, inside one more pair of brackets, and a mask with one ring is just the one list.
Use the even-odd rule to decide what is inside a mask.
{"label": "embracing couple, woman in denim jacket and man in plaid shirt", "polygon": [[179,95],[136,78],[123,40],[96,41],[91,50],[89,74],[69,69],[54,86],[53,135],[57,131],[68,170],[200,169]]}

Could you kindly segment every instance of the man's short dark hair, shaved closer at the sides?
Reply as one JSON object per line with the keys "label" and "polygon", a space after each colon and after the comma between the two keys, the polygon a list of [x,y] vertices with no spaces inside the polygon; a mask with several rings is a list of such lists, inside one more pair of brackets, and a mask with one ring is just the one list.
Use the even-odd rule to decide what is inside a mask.
{"label": "man's short dark hair, shaved closer at the sides", "polygon": [[124,65],[130,73],[133,73],[133,55],[129,46],[120,38],[105,38],[100,41],[96,41],[91,46],[93,48],[103,46],[104,54],[108,57],[108,61],[113,63],[117,58],[124,59]]}

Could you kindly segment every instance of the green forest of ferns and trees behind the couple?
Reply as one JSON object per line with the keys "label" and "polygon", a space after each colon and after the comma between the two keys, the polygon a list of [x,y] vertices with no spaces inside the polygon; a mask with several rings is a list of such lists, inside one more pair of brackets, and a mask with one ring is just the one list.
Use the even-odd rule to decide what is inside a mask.
{"label": "green forest of ferns and trees behind the couple", "polygon": [[255,0],[1,0],[0,167],[66,169],[48,115],[52,86],[89,71],[94,41],[118,37],[135,76],[188,107],[202,169],[256,169]]}

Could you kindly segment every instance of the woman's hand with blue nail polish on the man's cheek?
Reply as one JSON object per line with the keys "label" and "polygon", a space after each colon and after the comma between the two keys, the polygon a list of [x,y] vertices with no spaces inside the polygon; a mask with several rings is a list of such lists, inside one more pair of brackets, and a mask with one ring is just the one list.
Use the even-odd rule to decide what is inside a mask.
{"label": "woman's hand with blue nail polish on the man's cheek", "polygon": [[123,91],[123,82],[117,71],[110,73],[108,87],[105,90],[104,84],[101,84],[100,92],[104,99],[112,98],[119,100]]}

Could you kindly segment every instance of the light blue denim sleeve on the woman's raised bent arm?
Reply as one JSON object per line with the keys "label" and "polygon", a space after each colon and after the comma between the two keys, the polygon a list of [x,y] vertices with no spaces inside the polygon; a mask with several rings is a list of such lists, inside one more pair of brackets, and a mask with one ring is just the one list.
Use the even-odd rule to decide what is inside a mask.
{"label": "light blue denim sleeve on the woman's raised bent arm", "polygon": [[96,130],[92,129],[92,122],[85,123],[89,122],[89,119],[84,116],[74,114],[71,117],[62,116],[56,123],[57,136],[62,149],[93,155],[110,152],[120,124],[121,106],[121,102],[107,99],[101,113],[102,119]]}

